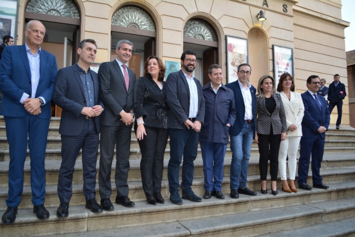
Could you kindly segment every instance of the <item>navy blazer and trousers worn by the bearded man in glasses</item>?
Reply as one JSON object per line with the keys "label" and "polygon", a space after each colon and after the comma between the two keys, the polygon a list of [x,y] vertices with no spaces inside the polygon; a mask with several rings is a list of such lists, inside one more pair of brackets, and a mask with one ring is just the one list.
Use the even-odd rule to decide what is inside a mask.
{"label": "navy blazer and trousers worn by the bearded man in glasses", "polygon": [[[197,86],[198,112],[196,120],[203,124],[205,102],[201,83],[193,78]],[[189,116],[190,89],[182,70],[170,73],[166,79],[166,101],[169,105],[167,124],[170,135],[170,160],[168,164],[168,181],[170,194],[179,192],[179,171],[183,156],[182,183],[183,194],[191,192],[194,177],[194,160],[197,156],[198,133],[187,129],[184,122]]]}

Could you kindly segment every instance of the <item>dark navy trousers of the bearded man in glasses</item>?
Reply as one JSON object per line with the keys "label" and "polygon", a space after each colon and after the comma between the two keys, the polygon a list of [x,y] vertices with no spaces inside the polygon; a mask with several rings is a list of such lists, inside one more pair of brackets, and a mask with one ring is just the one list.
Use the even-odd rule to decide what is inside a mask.
{"label": "dark navy trousers of the bearded man in glasses", "polygon": [[191,192],[194,178],[194,160],[197,156],[198,133],[194,129],[169,128],[170,160],[168,181],[170,194],[179,192],[179,172],[183,156],[182,182],[183,194]]}

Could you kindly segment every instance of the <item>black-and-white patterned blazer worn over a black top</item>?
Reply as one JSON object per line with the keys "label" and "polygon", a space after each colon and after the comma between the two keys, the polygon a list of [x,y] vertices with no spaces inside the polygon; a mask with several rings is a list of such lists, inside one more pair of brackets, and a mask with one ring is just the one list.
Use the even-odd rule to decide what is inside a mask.
{"label": "black-and-white patterned blazer worn over a black top", "polygon": [[270,134],[270,128],[272,125],[273,134],[281,134],[282,132],[287,132],[286,125],[286,115],[285,109],[283,108],[282,99],[279,93],[273,93],[272,98],[275,100],[276,108],[272,112],[266,109],[265,106],[265,97],[259,96],[257,94],[256,100],[256,131],[260,134]]}

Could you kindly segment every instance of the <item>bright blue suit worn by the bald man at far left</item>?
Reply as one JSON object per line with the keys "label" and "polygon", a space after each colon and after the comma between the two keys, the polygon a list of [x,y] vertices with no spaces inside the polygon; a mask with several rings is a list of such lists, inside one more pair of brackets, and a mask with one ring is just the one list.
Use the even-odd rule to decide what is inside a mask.
{"label": "bright blue suit worn by the bald man at far left", "polygon": [[45,154],[56,74],[55,57],[42,50],[35,98],[43,97],[46,104],[41,106],[42,113],[39,115],[29,114],[20,103],[23,93],[31,95],[32,91],[25,45],[5,47],[0,61],[0,89],[3,90],[1,114],[5,118],[10,148],[9,198],[6,200],[9,207],[17,207],[21,202],[27,138],[31,158],[32,203],[38,206],[45,202]]}

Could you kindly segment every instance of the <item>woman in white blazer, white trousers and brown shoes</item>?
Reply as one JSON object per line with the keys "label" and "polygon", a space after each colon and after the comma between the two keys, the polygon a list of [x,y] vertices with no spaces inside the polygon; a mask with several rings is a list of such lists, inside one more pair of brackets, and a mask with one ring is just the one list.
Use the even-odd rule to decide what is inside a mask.
{"label": "woman in white blazer, white trousers and brown shoes", "polygon": [[[295,83],[289,73],[283,73],[278,81],[277,91],[280,92],[287,120],[287,138],[281,141],[278,152],[278,169],[281,176],[281,188],[283,192],[297,192],[295,186],[297,151],[302,136],[301,122],[304,114],[304,106],[301,94],[295,92]],[[286,159],[289,157],[290,183],[287,183]]]}

